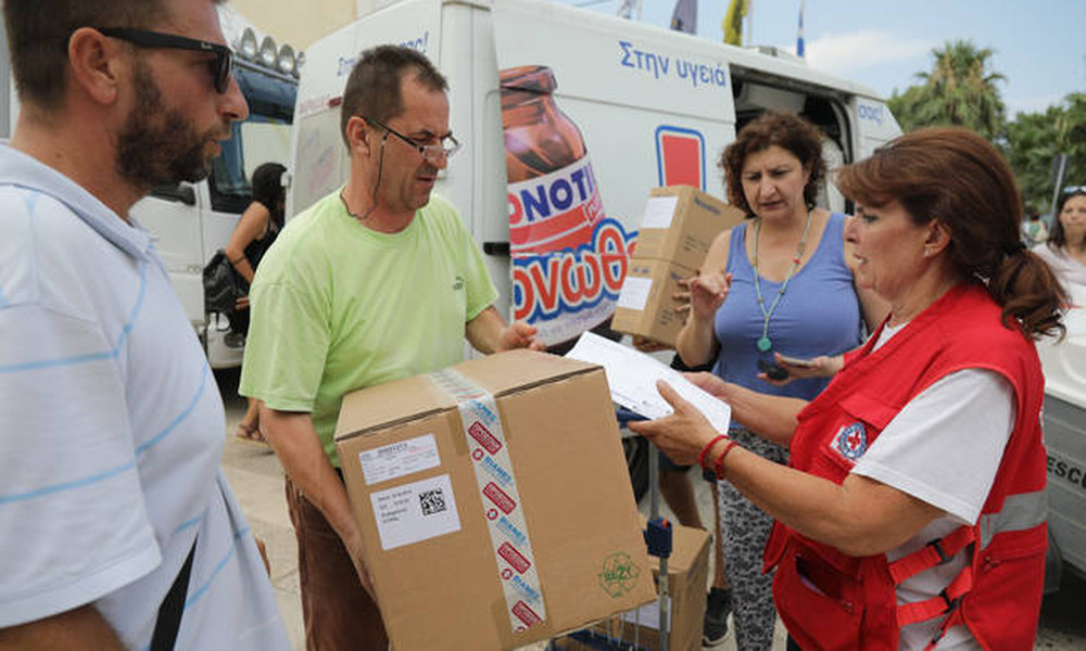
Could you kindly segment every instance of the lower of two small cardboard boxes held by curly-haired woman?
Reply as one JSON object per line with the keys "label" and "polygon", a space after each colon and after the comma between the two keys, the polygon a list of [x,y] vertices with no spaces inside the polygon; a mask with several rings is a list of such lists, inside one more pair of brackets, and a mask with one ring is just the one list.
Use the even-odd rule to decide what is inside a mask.
{"label": "lower of two small cardboard boxes held by curly-haired woman", "polygon": [[690,279],[694,270],[668,260],[632,258],[615,306],[611,329],[637,334],[674,347],[683,327],[672,298],[679,281]]}

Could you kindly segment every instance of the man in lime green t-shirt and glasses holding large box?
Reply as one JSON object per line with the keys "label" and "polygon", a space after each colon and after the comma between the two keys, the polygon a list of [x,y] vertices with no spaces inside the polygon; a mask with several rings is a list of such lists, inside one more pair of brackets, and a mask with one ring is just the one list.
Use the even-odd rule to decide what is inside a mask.
{"label": "man in lime green t-shirt and glasses holding large box", "polygon": [[311,650],[388,648],[332,443],[343,395],[455,363],[465,337],[482,353],[543,348],[498,315],[470,233],[431,196],[459,146],[446,90],[413,50],[362,54],[340,120],[351,176],[287,225],[250,293],[239,392],[263,401],[287,474]]}

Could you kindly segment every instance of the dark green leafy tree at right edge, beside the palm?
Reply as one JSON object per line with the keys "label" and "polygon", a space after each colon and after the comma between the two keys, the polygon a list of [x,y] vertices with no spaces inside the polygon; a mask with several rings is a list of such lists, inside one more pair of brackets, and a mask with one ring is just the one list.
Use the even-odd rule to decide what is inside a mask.
{"label": "dark green leafy tree at right edge, beside the palm", "polygon": [[1041,113],[1019,113],[1006,135],[1003,152],[1028,209],[1049,209],[1052,158],[1059,153],[1068,154],[1064,186],[1086,186],[1086,93],[1072,93]]}

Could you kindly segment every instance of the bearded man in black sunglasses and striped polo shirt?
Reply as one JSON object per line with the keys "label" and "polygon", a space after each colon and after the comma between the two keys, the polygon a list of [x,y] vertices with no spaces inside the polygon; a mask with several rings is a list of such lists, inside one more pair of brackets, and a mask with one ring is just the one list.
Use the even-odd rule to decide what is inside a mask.
{"label": "bearded man in black sunglasses and striped polo shirt", "polygon": [[129,209],[249,113],[212,0],[5,0],[0,649],[290,648],[223,404]]}

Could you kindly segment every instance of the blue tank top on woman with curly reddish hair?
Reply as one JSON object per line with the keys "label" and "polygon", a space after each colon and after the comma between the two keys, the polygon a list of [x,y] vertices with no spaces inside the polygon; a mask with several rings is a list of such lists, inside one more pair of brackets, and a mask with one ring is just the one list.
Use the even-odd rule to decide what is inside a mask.
{"label": "blue tank top on woman with curly reddish hair", "polygon": [[[743,246],[749,224],[746,221],[732,229],[728,251],[732,289],[714,322],[720,354],[712,372],[759,393],[810,400],[830,383],[828,378],[795,380],[784,386],[773,386],[758,379],[761,353],[756,343],[765,319],[758,309],[754,267]],[[860,344],[860,305],[853,273],[845,265],[844,229],[845,216],[830,215],[815,255],[788,282],[769,320],[773,350],[791,357],[811,358],[837,355]],[[760,278],[759,284],[768,309],[781,291],[781,283]]]}

